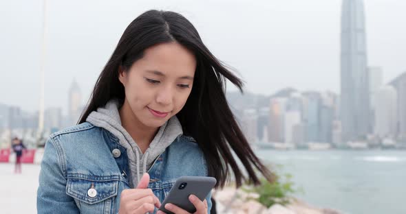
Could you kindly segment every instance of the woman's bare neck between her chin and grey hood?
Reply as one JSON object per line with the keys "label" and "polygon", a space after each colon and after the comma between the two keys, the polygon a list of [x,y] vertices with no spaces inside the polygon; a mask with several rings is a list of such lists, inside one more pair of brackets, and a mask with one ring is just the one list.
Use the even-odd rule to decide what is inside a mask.
{"label": "woman's bare neck between her chin and grey hood", "polygon": [[149,147],[149,144],[153,140],[153,137],[156,135],[156,132],[158,132],[158,128],[144,126],[144,124],[137,119],[136,115],[134,115],[127,102],[127,99],[125,99],[119,112],[122,127],[125,128],[131,138],[136,141],[138,147],[141,149],[141,152],[145,153]]}

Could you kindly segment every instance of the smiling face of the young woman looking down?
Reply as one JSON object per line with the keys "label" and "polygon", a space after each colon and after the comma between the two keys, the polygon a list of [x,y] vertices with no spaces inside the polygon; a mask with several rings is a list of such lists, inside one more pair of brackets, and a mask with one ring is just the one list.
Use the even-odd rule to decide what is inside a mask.
{"label": "smiling face of the young woman looking down", "polygon": [[136,119],[160,127],[176,115],[191,93],[195,69],[195,56],[178,43],[145,49],[144,56],[119,75]]}

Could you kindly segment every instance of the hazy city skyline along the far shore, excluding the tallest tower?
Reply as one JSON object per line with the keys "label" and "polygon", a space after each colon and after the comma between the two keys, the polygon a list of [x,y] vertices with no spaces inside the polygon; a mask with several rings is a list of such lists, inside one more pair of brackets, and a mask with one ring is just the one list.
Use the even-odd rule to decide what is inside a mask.
{"label": "hazy city skyline along the far shore, excluding the tallest tower", "polygon": [[[399,148],[406,148],[406,132],[398,132],[398,124],[404,124],[405,120],[396,117],[397,109],[405,108],[404,102],[397,102],[397,97],[406,93],[405,90],[399,91],[396,86],[400,81],[406,81],[406,72],[402,78],[393,81],[394,86],[387,84],[379,87],[375,95],[376,120],[371,124],[374,130],[367,133],[367,141],[361,140],[350,147],[394,147],[398,141]],[[81,93],[76,82],[72,82],[71,89],[72,93],[67,97],[74,104],[74,114],[63,115],[61,108],[45,109],[45,134],[74,126],[76,123],[83,106],[77,102]],[[341,139],[339,95],[335,93],[282,88],[271,96],[231,92],[227,93],[226,97],[246,138],[253,145],[279,143],[281,148],[295,146],[301,149],[348,146],[348,142]],[[8,121],[0,121],[0,129],[3,131],[11,128],[11,132],[16,130],[21,133],[25,132],[23,130],[36,130],[38,126],[37,113],[27,114],[18,106],[0,104],[0,116],[4,116],[4,112],[8,112]],[[385,143],[382,144],[383,142]]]}

